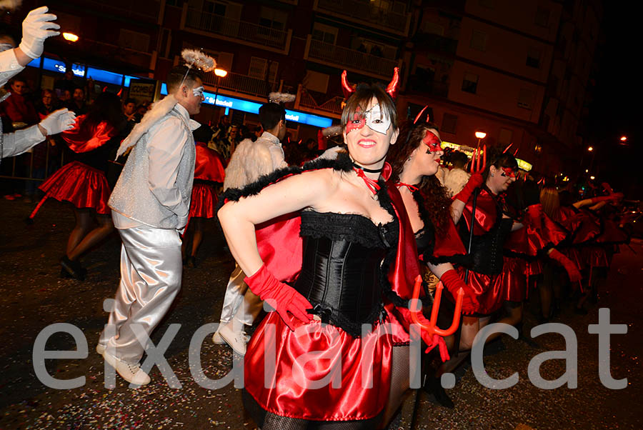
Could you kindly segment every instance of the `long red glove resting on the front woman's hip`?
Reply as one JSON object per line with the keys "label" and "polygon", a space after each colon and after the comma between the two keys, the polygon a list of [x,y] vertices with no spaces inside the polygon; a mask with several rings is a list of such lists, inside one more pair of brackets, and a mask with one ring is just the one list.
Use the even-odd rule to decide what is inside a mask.
{"label": "long red glove resting on the front woman's hip", "polygon": [[277,281],[266,269],[265,264],[256,271],[256,274],[246,276],[244,281],[248,284],[250,291],[259,296],[261,300],[267,300],[270,306],[274,307],[276,313],[281,316],[286,326],[289,326],[292,331],[294,331],[295,327],[288,316],[288,312],[296,319],[306,323],[313,319],[313,316],[306,311],[306,309],[312,309],[313,307],[310,302],[299,294],[296,289]]}

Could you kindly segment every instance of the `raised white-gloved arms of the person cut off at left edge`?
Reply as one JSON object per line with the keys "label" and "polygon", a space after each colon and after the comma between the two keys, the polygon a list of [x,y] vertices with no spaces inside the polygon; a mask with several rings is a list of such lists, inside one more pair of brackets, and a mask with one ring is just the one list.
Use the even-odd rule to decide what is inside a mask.
{"label": "raised white-gloved arms of the person cut off at left edge", "polygon": [[[54,31],[60,28],[53,22],[56,15],[47,14],[48,10],[47,6],[41,6],[27,14],[22,21],[22,41],[17,48],[14,48],[11,36],[0,34],[0,86],[4,86],[24,66],[42,55],[45,39],[60,34],[59,31]],[[9,93],[0,94],[0,101],[9,96]],[[44,141],[47,135],[71,129],[74,118],[73,112],[60,109],[49,114],[40,124],[7,134],[2,132],[0,122],[0,159],[20,155]]]}

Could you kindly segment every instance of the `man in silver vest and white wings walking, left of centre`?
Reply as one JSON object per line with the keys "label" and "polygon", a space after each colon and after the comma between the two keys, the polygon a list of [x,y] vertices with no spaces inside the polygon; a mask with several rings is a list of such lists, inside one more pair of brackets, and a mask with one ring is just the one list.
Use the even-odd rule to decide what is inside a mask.
{"label": "man in silver vest and white wings walking, left of centre", "polygon": [[[148,384],[139,361],[151,331],[181,289],[181,238],[186,226],[203,83],[199,71],[176,66],[168,96],[154,104],[121,143],[131,154],[109,198],[123,242],[121,281],[96,351],[133,385]],[[138,335],[138,338],[137,338]]]}

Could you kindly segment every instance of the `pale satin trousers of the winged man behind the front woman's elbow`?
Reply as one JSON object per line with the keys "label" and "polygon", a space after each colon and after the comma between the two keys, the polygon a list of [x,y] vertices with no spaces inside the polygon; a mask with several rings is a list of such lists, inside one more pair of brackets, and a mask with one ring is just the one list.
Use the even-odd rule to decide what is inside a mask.
{"label": "pale satin trousers of the winged man behind the front woman's elbow", "polygon": [[244,282],[245,277],[244,271],[239,264],[236,264],[226,287],[224,305],[221,309],[221,324],[229,323],[234,316],[236,321],[251,326],[261,312],[264,302],[250,291]]}

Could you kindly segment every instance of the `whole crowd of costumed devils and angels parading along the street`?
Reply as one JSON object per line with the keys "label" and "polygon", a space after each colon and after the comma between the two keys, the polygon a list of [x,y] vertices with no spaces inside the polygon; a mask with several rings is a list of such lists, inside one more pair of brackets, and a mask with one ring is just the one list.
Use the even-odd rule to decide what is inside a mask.
{"label": "whole crowd of costumed devils and angels parading along the street", "polygon": [[[26,19],[41,31],[37,42],[27,36],[7,51],[22,66],[22,55],[37,58],[55,36],[46,11]],[[3,134],[3,156],[59,133],[74,154],[39,186],[44,198],[32,214],[49,198],[71,204],[76,225],[61,275],[84,279],[81,257],[119,234],[121,279],[96,351],[134,386],[151,381],[139,363],[146,342],[181,289],[184,265],[198,266],[204,221],[215,216],[236,266],[212,341],[244,355],[244,406],[264,430],[394,426],[419,339],[424,389],[454,407],[440,376],[461,368],[479,342],[495,341],[497,333],[477,336],[484,326],[516,326],[534,346],[522,334],[529,291],[538,291],[540,322],[569,297],[577,314],[587,313],[629,240],[614,209],[623,196],[607,184],[574,199],[528,178],[507,149],[485,147],[484,158],[476,151],[470,160],[445,154],[429,118],[398,117],[397,69],[387,88],[342,75],[338,145],[321,151],[322,139],[287,139],[276,102],[259,109],[261,126],[190,119],[214,61],[184,58],[166,78],[168,96],[141,110],[109,91],[86,104],[82,89],[72,93],[71,75],[56,86],[71,95],[62,111],[52,91],[31,105],[19,78],[1,104],[14,124],[39,133],[29,141]],[[442,288],[437,324],[460,321],[454,334],[410,305],[431,303]],[[264,301],[274,311],[261,317]],[[306,365],[302,354],[317,355]]]}

